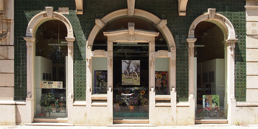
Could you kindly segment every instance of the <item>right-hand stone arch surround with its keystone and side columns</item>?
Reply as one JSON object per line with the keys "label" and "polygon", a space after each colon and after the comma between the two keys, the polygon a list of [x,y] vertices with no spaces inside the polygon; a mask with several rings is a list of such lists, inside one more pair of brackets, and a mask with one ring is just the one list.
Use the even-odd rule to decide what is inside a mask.
{"label": "right-hand stone arch surround with its keystone and side columns", "polygon": [[[197,40],[194,37],[194,30],[197,26],[198,23],[201,21],[209,21],[213,22],[217,26],[220,27],[222,32],[224,33],[224,36],[226,39],[223,41],[226,44],[226,51],[225,51],[225,74],[226,74],[226,80],[225,80],[225,87],[227,89],[227,92],[225,93],[225,101],[228,105],[227,107],[227,116],[228,119],[231,118],[233,115],[232,113],[232,108],[234,108],[234,104],[236,102],[236,99],[234,97],[234,86],[235,86],[235,81],[234,81],[234,73],[235,73],[235,65],[234,65],[234,48],[235,48],[235,43],[238,41],[236,39],[234,27],[232,23],[223,15],[219,13],[215,13],[216,9],[208,9],[208,13],[204,13],[197,17],[191,24],[188,32],[188,38],[186,41],[188,42],[188,60],[189,60],[189,67],[188,67],[188,88],[189,88],[189,97],[193,96],[194,94],[194,56],[193,56],[193,49],[194,49],[194,42]],[[192,97],[191,97],[192,98]],[[194,112],[194,110],[192,111]]]}

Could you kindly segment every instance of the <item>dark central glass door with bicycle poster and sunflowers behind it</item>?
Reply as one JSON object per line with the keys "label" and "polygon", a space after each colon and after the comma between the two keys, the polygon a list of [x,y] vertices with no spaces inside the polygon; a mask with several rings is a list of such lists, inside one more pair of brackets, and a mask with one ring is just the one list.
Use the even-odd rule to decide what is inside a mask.
{"label": "dark central glass door with bicycle poster and sunflowers behind it", "polygon": [[149,118],[148,43],[113,43],[113,118]]}

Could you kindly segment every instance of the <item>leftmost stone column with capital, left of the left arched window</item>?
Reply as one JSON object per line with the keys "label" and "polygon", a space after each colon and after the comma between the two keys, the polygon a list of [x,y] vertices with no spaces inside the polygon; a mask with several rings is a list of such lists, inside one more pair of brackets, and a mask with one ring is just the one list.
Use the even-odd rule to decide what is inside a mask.
{"label": "leftmost stone column with capital, left of the left arched window", "polygon": [[26,122],[32,123],[34,118],[34,42],[33,37],[24,37],[27,46],[27,97],[26,106],[28,106],[28,115]]}

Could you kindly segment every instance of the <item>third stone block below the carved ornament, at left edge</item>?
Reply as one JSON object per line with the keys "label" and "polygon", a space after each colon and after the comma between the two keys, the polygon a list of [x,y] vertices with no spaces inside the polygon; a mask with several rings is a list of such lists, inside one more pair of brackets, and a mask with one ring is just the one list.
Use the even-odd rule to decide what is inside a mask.
{"label": "third stone block below the carved ornament, at left edge", "polygon": [[13,73],[0,73],[0,87],[7,86],[13,87],[14,86],[14,74]]}

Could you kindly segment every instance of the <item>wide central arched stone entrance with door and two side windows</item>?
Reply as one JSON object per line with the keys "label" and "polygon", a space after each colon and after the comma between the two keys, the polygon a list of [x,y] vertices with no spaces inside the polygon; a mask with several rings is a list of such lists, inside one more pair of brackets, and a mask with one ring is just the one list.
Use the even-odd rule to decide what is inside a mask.
{"label": "wide central arched stone entrance with door and two side windows", "polygon": [[[91,77],[87,78],[86,113],[91,116],[87,122],[108,112],[106,117],[113,123],[120,123],[121,119],[143,119],[140,123],[155,124],[158,122],[155,113],[162,108],[166,108],[161,112],[165,116],[169,111],[169,117],[176,117],[176,105],[169,101],[172,96],[176,100],[175,43],[166,26],[167,20],[140,9],[134,10],[137,13],[130,17],[127,9],[121,9],[95,19],[86,50],[87,77]],[[162,61],[165,65],[159,67],[163,66]],[[157,88],[156,73],[163,81]],[[164,92],[161,86],[165,87]],[[163,100],[160,103],[161,96],[155,99],[157,95],[163,95],[169,103],[163,103]],[[158,105],[155,105],[156,100]],[[92,110],[99,112],[92,114]],[[126,123],[137,120],[129,121]],[[106,123],[110,124],[110,121]]]}

